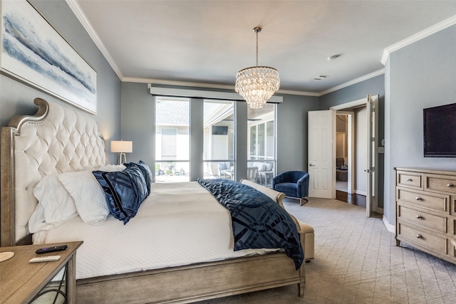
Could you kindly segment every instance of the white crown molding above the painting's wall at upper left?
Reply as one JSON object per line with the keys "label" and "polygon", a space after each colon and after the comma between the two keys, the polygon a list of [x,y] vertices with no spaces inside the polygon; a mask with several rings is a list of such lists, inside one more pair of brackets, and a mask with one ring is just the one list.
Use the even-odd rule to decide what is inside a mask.
{"label": "white crown molding above the painting's wall at upper left", "polygon": [[101,41],[100,37],[93,29],[93,26],[90,23],[90,21],[88,21],[86,14],[84,14],[83,10],[81,9],[81,6],[79,6],[79,4],[76,0],[65,0],[65,1],[66,1],[66,4],[68,4],[68,6],[70,6],[70,9],[71,9],[71,11],[73,11],[73,14],[75,14],[76,18],[78,18],[79,22],[81,22],[82,26],[86,29],[88,35],[90,36],[90,38],[92,38],[93,42],[98,47],[100,52],[106,58],[106,61],[108,61],[111,68],[113,68],[114,73],[117,74],[117,76],[120,80],[122,80],[122,78],[123,78],[122,72],[120,72],[118,65],[115,63],[113,57],[108,52],[108,49],[105,47],[105,44],[103,43],[103,41]]}

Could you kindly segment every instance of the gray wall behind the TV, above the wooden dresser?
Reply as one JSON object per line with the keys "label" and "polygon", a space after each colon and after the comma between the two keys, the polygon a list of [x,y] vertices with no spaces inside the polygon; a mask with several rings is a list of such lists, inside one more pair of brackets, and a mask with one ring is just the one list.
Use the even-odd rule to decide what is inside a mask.
{"label": "gray wall behind the TV, above the wooden dresser", "polygon": [[455,46],[456,26],[451,26],[388,59],[384,211],[389,224],[395,224],[394,167],[456,170],[455,158],[423,157],[423,108],[456,103]]}

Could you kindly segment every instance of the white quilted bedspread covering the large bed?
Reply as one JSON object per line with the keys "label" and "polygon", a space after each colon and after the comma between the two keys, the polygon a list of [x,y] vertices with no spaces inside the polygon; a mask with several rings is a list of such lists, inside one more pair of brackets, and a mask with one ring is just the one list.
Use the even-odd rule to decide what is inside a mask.
{"label": "white quilted bedspread covering the large bed", "polygon": [[233,251],[229,211],[197,182],[152,184],[150,196],[126,225],[108,216],[95,226],[78,216],[33,235],[33,243],[81,240],[84,243],[77,252],[76,278],[274,251]]}

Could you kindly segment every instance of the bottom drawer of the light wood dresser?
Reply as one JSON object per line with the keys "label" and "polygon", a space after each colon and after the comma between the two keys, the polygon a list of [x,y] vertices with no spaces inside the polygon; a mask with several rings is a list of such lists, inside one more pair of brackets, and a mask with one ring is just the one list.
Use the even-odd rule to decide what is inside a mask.
{"label": "bottom drawer of the light wood dresser", "polygon": [[447,254],[447,238],[445,236],[428,234],[402,223],[398,223],[398,236],[410,245],[421,246],[435,253]]}

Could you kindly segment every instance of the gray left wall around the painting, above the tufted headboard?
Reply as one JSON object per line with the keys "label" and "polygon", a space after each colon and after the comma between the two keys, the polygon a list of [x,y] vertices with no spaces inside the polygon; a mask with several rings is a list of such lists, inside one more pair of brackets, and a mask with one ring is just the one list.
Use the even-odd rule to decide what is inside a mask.
{"label": "gray left wall around the painting, above the tufted headboard", "polygon": [[[109,142],[113,137],[120,137],[120,80],[118,76],[65,1],[35,0],[32,3],[97,72],[98,114],[93,115],[93,117],[98,122],[100,132],[105,137],[106,142]],[[9,120],[14,115],[35,114],[38,108],[33,104],[33,99],[37,97],[80,111],[68,103],[53,98],[51,95],[1,74],[1,126],[8,125]],[[115,154],[108,153],[108,158],[110,162],[115,162]]]}

